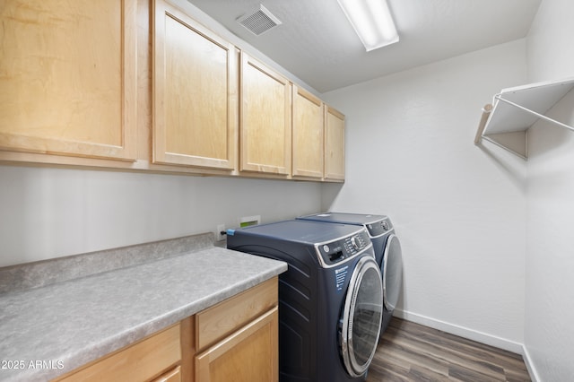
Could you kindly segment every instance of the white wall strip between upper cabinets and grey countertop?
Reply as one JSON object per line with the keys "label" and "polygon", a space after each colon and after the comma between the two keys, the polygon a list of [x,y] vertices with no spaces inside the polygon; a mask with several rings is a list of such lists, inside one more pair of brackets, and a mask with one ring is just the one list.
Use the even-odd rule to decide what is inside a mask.
{"label": "white wall strip between upper cabinets and grey countertop", "polygon": [[0,266],[314,213],[317,183],[0,166]]}

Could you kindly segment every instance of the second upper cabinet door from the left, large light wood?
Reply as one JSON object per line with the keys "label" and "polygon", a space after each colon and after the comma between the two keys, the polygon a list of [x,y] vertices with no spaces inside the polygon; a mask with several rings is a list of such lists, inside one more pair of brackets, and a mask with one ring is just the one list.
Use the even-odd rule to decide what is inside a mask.
{"label": "second upper cabinet door from the left, large light wood", "polygon": [[239,51],[154,2],[153,161],[235,169]]}

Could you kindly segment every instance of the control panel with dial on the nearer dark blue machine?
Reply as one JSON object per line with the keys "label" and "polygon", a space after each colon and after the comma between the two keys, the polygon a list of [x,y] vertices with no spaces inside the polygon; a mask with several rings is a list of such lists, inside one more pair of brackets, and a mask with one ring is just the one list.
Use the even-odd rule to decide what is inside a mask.
{"label": "control panel with dial on the nearer dark blue machine", "polygon": [[360,254],[368,247],[372,247],[372,244],[367,230],[361,230],[343,239],[316,245],[319,264],[324,267],[341,263],[352,256]]}

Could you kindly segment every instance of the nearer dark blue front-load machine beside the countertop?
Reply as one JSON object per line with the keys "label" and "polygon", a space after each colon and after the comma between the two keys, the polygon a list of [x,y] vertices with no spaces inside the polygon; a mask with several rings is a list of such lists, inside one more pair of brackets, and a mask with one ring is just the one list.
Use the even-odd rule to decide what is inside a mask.
{"label": "nearer dark blue front-load machine beside the countertop", "polygon": [[364,227],[279,221],[227,231],[227,247],[283,260],[279,379],[366,378],[382,325],[383,286]]}

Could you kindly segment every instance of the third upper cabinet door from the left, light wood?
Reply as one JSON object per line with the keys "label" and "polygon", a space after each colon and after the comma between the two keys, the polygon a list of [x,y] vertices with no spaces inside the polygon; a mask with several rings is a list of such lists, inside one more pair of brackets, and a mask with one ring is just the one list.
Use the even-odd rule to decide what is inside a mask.
{"label": "third upper cabinet door from the left, light wood", "polygon": [[291,82],[241,52],[240,170],[291,173]]}

